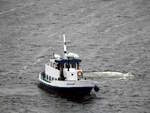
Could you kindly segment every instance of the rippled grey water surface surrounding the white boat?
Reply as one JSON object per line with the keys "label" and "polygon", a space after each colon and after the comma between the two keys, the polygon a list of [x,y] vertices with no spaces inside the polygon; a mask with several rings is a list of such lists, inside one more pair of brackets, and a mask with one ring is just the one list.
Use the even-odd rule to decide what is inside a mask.
{"label": "rippled grey water surface surrounding the white boat", "polygon": [[[37,87],[62,33],[98,93],[74,100]],[[0,0],[0,64],[1,113],[149,113],[150,1]]]}

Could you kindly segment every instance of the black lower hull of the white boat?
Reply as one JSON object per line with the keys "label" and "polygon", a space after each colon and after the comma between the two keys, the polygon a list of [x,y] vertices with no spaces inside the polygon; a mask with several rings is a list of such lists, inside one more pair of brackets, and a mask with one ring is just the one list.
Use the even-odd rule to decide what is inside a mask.
{"label": "black lower hull of the white boat", "polygon": [[66,96],[86,96],[90,95],[92,87],[74,87],[74,88],[64,88],[64,87],[54,87],[46,85],[44,83],[39,83],[38,86],[51,93],[56,93],[58,95]]}

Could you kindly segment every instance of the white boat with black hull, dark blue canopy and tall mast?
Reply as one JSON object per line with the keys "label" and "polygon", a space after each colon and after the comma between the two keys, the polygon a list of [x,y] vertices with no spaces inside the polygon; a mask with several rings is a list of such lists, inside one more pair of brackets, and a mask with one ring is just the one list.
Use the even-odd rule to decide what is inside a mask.
{"label": "white boat with black hull, dark blue canopy and tall mast", "polygon": [[45,70],[39,73],[39,86],[58,94],[89,95],[91,90],[98,91],[97,83],[87,80],[80,68],[81,59],[78,54],[67,52],[66,38],[64,39],[64,55],[54,54]]}

